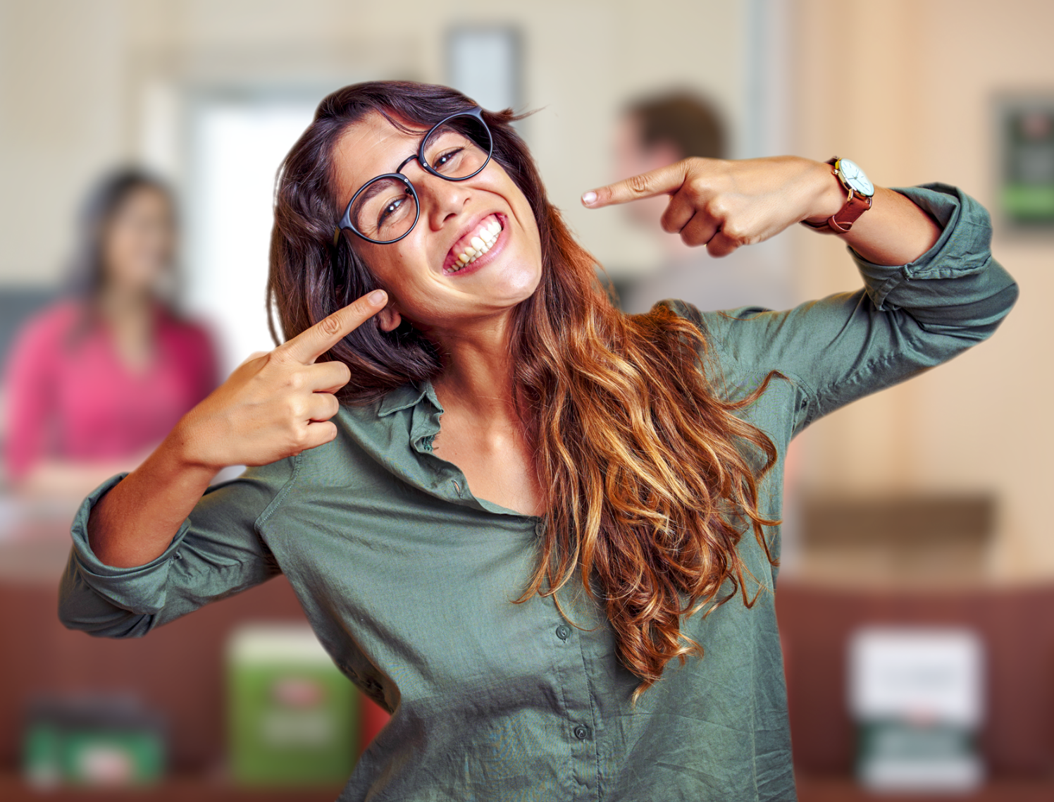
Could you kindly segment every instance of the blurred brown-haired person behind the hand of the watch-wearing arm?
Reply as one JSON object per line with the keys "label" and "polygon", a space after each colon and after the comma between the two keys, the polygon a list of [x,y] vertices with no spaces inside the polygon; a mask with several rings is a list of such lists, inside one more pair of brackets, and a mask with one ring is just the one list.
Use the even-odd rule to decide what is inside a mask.
{"label": "blurred brown-haired person behind the hand of the watch-wearing arm", "polygon": [[[727,158],[727,139],[718,110],[695,93],[675,90],[641,96],[626,105],[616,128],[616,177],[641,175],[690,157]],[[626,208],[630,219],[658,235],[663,255],[656,271],[621,293],[623,311],[642,314],[666,298],[705,310],[790,306],[785,265],[749,248],[715,259],[706,249],[668,236],[660,228],[666,200],[660,195]]]}

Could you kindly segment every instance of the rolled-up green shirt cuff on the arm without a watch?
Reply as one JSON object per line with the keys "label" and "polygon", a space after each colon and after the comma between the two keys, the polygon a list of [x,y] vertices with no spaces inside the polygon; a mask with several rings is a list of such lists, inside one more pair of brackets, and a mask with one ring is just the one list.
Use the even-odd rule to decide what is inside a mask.
{"label": "rolled-up green shirt cuff on the arm without a watch", "polygon": [[177,555],[190,522],[182,523],[163,553],[144,565],[116,568],[102,563],[92,551],[87,540],[87,517],[99,500],[126,475],[120,473],[106,480],[81,503],[70,529],[73,560],[85,584],[113,604],[132,612],[155,614],[164,606],[169,566],[173,556]]}

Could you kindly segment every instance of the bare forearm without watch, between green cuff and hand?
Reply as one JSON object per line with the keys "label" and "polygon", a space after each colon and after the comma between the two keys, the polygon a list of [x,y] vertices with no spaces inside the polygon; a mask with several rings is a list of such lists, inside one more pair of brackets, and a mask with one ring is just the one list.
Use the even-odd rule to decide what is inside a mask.
{"label": "bare forearm without watch, between green cuff and hand", "polygon": [[216,470],[188,459],[184,439],[177,426],[92,510],[89,543],[102,563],[131,568],[155,560],[201,498]]}

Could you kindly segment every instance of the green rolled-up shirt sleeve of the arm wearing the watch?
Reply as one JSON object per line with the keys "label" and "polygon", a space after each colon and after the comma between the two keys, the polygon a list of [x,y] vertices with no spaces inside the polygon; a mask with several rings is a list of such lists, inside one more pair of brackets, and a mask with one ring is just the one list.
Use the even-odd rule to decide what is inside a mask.
{"label": "green rolled-up shirt sleeve of the arm wearing the watch", "polygon": [[933,248],[915,261],[874,265],[850,249],[864,282],[855,293],[785,312],[691,315],[727,369],[730,394],[747,392],[778,371],[798,389],[794,429],[800,431],[839,407],[951,359],[998,328],[1017,299],[1017,285],[992,258],[988,212],[945,184],[897,192],[942,228]]}

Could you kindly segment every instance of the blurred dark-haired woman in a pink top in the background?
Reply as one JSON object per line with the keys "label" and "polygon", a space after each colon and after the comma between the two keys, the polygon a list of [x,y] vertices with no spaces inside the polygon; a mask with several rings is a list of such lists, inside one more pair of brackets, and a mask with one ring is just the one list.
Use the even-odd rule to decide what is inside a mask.
{"label": "blurred dark-haired woman in a pink top in the background", "polygon": [[74,295],[28,321],[5,377],[8,480],[32,494],[81,496],[132,470],[216,385],[208,333],[181,319],[175,209],[138,170],[89,198]]}

